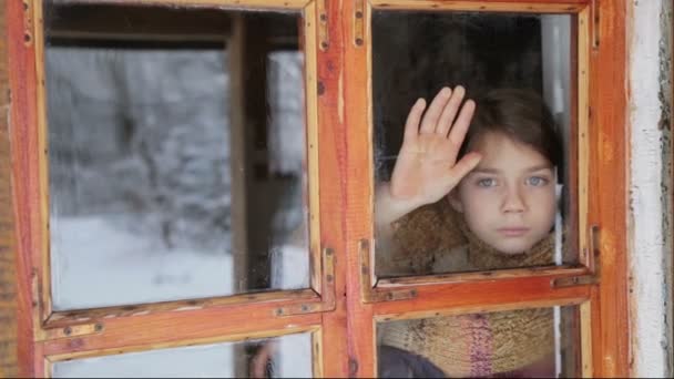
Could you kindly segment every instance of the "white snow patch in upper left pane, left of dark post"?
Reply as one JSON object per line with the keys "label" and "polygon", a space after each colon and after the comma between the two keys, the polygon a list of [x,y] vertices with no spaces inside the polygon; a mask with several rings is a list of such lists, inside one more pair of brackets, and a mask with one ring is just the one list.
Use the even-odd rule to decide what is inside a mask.
{"label": "white snow patch in upper left pane, left of dark post", "polygon": [[52,225],[55,309],[226,296],[233,293],[226,252],[165,249],[142,234],[102,217],[72,217]]}

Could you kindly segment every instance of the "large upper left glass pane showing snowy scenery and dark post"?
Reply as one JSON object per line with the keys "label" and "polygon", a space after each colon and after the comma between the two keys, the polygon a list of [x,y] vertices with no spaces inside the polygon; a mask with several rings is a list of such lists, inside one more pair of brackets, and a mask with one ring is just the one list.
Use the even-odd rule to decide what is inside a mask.
{"label": "large upper left glass pane showing snowy scenery and dark post", "polygon": [[55,309],[308,287],[300,17],[47,1]]}

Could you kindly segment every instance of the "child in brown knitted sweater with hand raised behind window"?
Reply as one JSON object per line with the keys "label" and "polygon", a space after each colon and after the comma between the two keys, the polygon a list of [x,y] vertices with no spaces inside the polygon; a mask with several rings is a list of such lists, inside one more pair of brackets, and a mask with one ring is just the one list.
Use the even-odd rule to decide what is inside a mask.
{"label": "child in brown knitted sweater with hand raised behind window", "polygon": [[[423,100],[408,115],[390,183],[377,190],[379,275],[553,264],[561,144],[550,112],[522,90],[477,106],[463,96],[445,88],[423,116]],[[522,309],[386,322],[379,360],[392,347],[448,377],[554,376],[552,319]]]}

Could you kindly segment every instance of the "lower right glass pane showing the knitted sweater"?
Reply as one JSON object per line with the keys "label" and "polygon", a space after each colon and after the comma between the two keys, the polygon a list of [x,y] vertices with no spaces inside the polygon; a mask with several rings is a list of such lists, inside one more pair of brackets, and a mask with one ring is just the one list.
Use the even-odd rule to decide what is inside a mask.
{"label": "lower right glass pane showing the knitted sweater", "polygon": [[377,325],[380,378],[578,378],[578,307]]}

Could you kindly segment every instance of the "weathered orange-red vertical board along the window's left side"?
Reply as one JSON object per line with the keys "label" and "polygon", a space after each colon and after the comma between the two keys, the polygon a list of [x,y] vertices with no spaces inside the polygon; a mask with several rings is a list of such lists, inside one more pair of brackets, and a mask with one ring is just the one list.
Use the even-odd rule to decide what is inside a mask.
{"label": "weathered orange-red vertical board along the window's left side", "polygon": [[[18,359],[19,376],[34,377],[35,317],[38,315],[39,296],[33,294],[33,278],[37,277],[39,257],[33,252],[40,252],[41,235],[34,226],[41,224],[39,158],[37,134],[37,76],[35,57],[32,29],[31,2],[8,0],[7,32],[9,78],[11,90],[11,175],[17,225],[17,289],[18,289]],[[39,260],[38,260],[39,262]],[[34,270],[35,269],[35,270]]]}

